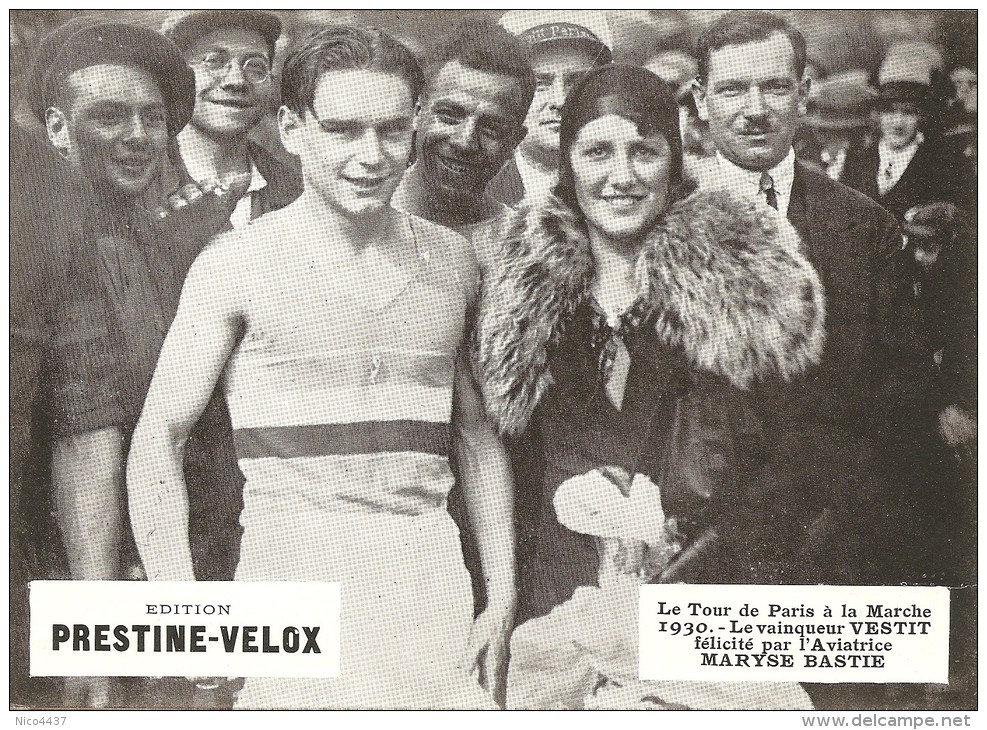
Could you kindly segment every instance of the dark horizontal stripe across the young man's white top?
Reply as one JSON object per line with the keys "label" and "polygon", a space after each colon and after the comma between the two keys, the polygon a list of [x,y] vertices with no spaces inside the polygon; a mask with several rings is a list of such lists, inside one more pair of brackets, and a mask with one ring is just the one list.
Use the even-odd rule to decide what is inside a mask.
{"label": "dark horizontal stripe across the young man's white top", "polygon": [[432,421],[361,421],[313,426],[238,428],[233,432],[240,459],[345,456],[417,452],[448,456],[448,423]]}

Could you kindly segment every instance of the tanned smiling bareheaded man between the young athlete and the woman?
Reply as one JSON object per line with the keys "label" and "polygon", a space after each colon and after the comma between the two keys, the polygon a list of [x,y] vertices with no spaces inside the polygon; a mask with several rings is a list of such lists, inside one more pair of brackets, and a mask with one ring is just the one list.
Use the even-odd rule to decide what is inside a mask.
{"label": "tanned smiling bareheaded man between the young athlete and the woman", "polygon": [[392,205],[470,238],[506,210],[485,190],[524,139],[534,76],[521,41],[482,19],[466,20],[425,73],[415,163]]}

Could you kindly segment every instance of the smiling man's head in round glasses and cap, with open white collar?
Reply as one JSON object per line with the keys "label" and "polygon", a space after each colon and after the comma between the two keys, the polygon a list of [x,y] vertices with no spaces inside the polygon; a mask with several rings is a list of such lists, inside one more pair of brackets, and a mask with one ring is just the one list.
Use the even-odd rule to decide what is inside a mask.
{"label": "smiling man's head in round glasses and cap, with open white collar", "polygon": [[170,155],[180,182],[231,187],[240,198],[230,216],[234,228],[294,200],[301,192],[297,175],[248,138],[275,95],[278,16],[207,10],[183,15],[163,30],[195,72],[192,121]]}

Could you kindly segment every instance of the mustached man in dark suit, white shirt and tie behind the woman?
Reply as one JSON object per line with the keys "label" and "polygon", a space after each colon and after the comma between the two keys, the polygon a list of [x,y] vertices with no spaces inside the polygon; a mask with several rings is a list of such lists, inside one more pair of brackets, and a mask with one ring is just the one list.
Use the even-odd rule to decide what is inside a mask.
{"label": "mustached man in dark suit, white shirt and tie behind the woman", "polygon": [[702,182],[786,216],[826,289],[820,365],[798,381],[760,386],[764,425],[777,432],[767,463],[804,499],[807,560],[826,555],[827,569],[816,565],[805,579],[887,581],[891,568],[875,552],[887,553],[887,544],[854,554],[878,526],[853,515],[882,504],[875,485],[888,474],[881,454],[893,419],[882,394],[906,364],[896,324],[907,299],[896,288],[905,264],[901,234],[876,203],[796,161],[792,141],[809,90],[805,57],[801,33],[771,13],[731,12],[705,29],[694,95],[717,157]]}

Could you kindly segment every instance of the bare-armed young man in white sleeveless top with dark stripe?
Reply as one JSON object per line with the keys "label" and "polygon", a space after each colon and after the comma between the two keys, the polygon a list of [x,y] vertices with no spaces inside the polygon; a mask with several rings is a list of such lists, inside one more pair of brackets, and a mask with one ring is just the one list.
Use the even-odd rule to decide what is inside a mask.
{"label": "bare-armed young man in white sleeveless top with dark stripe", "polygon": [[[342,584],[341,676],[248,679],[238,706],[490,707],[502,679],[512,498],[465,356],[477,267],[390,207],[422,86],[378,31],[334,27],[287,59],[279,124],[305,191],[196,261],[134,436],[151,580],[192,580],[183,444],[222,379],[247,478],[237,580]],[[475,620],[453,453],[486,579]]]}

